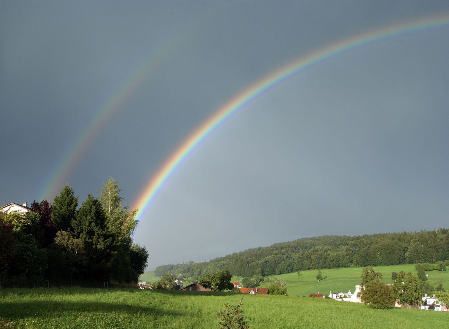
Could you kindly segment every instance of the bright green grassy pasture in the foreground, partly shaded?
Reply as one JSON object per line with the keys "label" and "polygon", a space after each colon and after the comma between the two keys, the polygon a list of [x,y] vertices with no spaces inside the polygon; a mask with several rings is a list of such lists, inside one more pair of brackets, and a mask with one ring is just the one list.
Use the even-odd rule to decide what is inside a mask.
{"label": "bright green grassy pasture in the foreground, partly shaded", "polygon": [[446,312],[375,310],[323,298],[83,288],[0,289],[0,315],[13,328],[211,329],[218,328],[214,310],[242,297],[251,329],[445,328],[449,319]]}

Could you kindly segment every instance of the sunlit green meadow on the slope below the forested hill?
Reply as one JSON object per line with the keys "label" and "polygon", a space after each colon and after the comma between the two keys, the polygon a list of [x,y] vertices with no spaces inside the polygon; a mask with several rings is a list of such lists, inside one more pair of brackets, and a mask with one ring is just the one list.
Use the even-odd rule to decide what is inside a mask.
{"label": "sunlit green meadow on the slope below the forested hill", "polygon": [[[378,266],[374,267],[375,271],[380,271],[383,274],[383,279],[386,283],[392,283],[392,272],[412,272],[416,274],[413,264],[407,265],[392,265],[392,266]],[[346,267],[338,269],[321,270],[323,277],[327,276],[325,280],[317,281],[315,276],[318,270],[301,271],[301,275],[297,273],[282,274],[276,276],[278,279],[287,281],[287,293],[289,295],[308,296],[311,293],[329,293],[330,291],[337,293],[347,293],[349,289],[354,292],[355,286],[360,283],[360,275],[362,267]],[[427,273],[427,272],[426,272]],[[449,271],[430,271],[427,282],[436,287],[442,283],[443,288],[449,289]],[[273,276],[270,276],[273,278]],[[269,283],[262,283],[260,287],[268,286]]]}

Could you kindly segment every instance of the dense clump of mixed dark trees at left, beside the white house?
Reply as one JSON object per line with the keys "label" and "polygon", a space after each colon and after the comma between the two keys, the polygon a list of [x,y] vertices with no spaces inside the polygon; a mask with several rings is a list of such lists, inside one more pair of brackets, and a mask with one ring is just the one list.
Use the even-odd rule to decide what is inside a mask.
{"label": "dense clump of mixed dark trees at left, beside the white house", "polygon": [[132,241],[137,209],[122,208],[116,179],[98,191],[79,206],[67,184],[52,204],[1,211],[0,278],[136,282],[148,262],[145,247]]}

